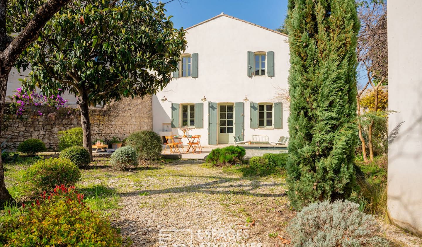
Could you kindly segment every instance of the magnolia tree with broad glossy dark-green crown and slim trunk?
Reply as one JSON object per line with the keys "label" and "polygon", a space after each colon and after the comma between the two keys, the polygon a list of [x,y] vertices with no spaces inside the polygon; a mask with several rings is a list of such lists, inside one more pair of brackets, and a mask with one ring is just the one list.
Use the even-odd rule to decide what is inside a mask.
{"label": "magnolia tree with broad glossy dark-green crown and slim trunk", "polygon": [[89,153],[89,106],[152,95],[172,79],[187,41],[164,11],[163,4],[145,0],[74,1],[22,53],[17,66],[31,69],[27,89],[78,97]]}

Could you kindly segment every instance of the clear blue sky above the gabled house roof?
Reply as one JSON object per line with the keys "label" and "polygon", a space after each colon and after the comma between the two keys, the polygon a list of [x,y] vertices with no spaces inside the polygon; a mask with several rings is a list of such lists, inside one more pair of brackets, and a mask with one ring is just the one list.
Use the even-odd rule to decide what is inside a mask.
{"label": "clear blue sky above the gabled house roof", "polygon": [[[162,0],[163,2],[165,0]],[[278,28],[286,16],[287,0],[174,0],[166,4],[176,28],[190,27],[221,12],[270,29]]]}

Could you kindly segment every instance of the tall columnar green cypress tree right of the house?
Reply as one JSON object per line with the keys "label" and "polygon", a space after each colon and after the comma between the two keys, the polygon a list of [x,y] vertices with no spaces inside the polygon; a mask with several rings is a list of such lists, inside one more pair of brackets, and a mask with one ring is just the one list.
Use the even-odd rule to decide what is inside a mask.
{"label": "tall columnar green cypress tree right of the house", "polygon": [[289,0],[289,199],[348,198],[354,183],[356,45],[354,0]]}

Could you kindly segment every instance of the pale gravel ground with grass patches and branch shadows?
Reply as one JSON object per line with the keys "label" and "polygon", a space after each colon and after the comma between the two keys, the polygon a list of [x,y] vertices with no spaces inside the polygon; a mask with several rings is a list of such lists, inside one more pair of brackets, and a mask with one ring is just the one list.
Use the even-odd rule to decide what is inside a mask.
{"label": "pale gravel ground with grass patches and branch shadows", "polygon": [[148,173],[114,181],[126,192],[113,223],[132,246],[277,246],[274,233],[284,236],[294,216],[280,177],[243,178],[199,162]]}

